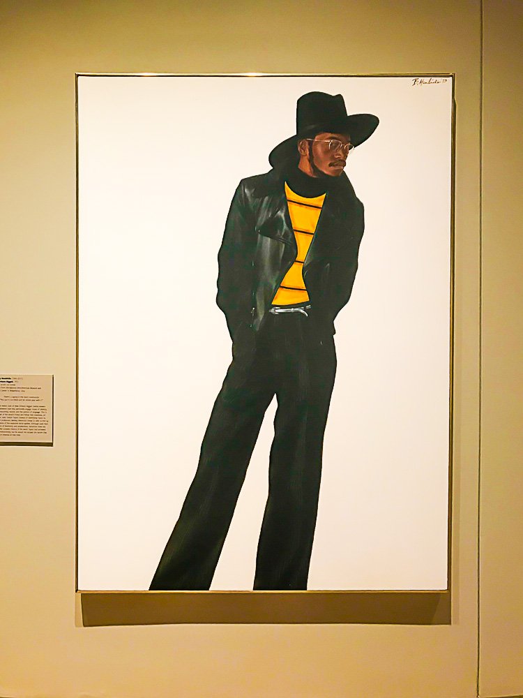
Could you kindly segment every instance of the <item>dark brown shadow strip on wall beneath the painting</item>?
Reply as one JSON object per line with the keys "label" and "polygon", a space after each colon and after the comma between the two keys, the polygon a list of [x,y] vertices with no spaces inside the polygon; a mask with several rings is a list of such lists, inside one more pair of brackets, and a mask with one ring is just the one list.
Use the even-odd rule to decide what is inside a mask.
{"label": "dark brown shadow strip on wall beneath the painting", "polygon": [[448,591],[77,592],[82,624],[381,623],[450,625]]}

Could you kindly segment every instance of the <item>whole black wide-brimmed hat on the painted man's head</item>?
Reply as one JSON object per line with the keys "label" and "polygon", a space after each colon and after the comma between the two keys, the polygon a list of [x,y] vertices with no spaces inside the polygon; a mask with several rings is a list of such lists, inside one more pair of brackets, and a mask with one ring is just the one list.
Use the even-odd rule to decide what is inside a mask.
{"label": "whole black wide-brimmed hat on the painted man's head", "polygon": [[356,146],[370,138],[379,124],[374,114],[347,114],[345,102],[340,94],[308,92],[296,103],[296,135],[277,145],[268,156],[273,167],[296,158],[298,140],[312,137],[321,131],[349,135]]}

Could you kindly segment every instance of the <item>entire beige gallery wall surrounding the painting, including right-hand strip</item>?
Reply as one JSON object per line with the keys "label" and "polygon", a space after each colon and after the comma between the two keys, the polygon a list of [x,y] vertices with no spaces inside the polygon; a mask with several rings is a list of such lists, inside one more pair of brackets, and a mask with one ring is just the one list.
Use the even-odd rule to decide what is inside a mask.
{"label": "entire beige gallery wall surrounding the painting, including right-hand strip", "polygon": [[[505,74],[517,33],[511,24],[507,34],[506,22],[520,21],[520,10],[518,3],[485,3],[491,141],[483,144],[483,698],[523,692],[515,570],[521,579],[522,563],[514,550],[523,532],[516,483],[521,419],[512,397],[520,371],[521,242],[517,216],[505,214],[513,207],[515,182],[506,168],[516,163],[517,140],[515,64],[510,80]],[[55,399],[52,447],[0,450],[0,696],[476,696],[480,11],[479,1],[444,10],[412,0],[0,3],[0,366],[53,373]],[[424,624],[379,623],[369,611],[367,622],[344,625],[84,627],[75,595],[76,72],[455,73],[451,623],[436,616]],[[501,110],[506,100],[511,108]],[[409,147],[416,143],[397,144],[398,176]],[[503,150],[508,159],[501,159]]]}

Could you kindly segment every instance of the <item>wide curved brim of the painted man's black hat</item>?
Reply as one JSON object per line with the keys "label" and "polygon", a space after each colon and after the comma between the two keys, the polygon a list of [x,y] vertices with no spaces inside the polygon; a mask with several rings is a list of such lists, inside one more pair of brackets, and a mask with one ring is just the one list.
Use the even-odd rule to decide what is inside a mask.
{"label": "wide curved brim of the painted man's black hat", "polygon": [[327,131],[328,133],[346,133],[350,136],[351,143],[354,147],[364,143],[367,138],[376,131],[379,124],[378,117],[374,114],[350,114],[342,119],[342,121],[331,122],[329,124],[317,124],[307,128],[307,131],[292,135],[290,138],[279,143],[268,156],[268,161],[271,166],[278,167],[286,161],[295,159],[296,163],[299,160],[298,156],[298,141],[313,133]]}

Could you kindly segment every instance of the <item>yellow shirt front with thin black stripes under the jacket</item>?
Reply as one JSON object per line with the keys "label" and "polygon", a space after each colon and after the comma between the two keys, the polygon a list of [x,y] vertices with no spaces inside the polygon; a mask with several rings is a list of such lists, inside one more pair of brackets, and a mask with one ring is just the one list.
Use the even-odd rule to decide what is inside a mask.
{"label": "yellow shirt front with thin black stripes under the jacket", "polygon": [[303,262],[307,258],[314,232],[318,223],[325,194],[308,198],[296,194],[285,182],[285,195],[291,216],[292,229],[296,238],[298,255],[293,265],[285,274],[273,298],[273,305],[284,306],[306,303],[309,300],[305,281],[303,281]]}

